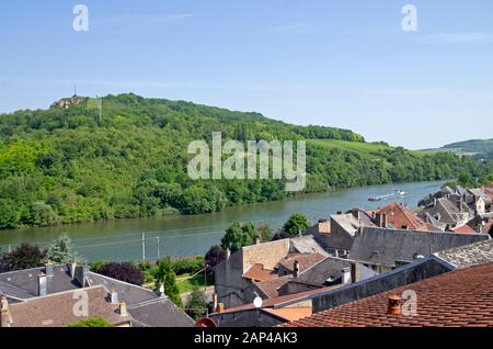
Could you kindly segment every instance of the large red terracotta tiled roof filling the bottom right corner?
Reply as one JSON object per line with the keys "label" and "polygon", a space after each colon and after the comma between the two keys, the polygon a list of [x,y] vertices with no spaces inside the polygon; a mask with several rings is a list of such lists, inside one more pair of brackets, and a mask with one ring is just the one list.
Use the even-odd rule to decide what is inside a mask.
{"label": "large red terracotta tiled roof filling the bottom right corner", "polygon": [[[417,315],[387,314],[388,297],[413,290]],[[310,317],[291,327],[493,327],[493,263],[461,269],[380,293]]]}

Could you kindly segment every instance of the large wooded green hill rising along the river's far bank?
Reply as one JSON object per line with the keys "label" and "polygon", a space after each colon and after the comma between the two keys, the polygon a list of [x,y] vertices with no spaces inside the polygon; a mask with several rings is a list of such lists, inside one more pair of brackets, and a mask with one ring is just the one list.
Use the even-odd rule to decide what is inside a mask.
{"label": "large wooded green hill rising along the river's far bank", "polygon": [[0,115],[0,228],[197,214],[290,195],[282,180],[191,180],[188,143],[217,131],[242,142],[307,139],[306,192],[492,172],[454,154],[417,155],[259,113],[122,94],[104,98],[100,121],[96,100],[66,102]]}

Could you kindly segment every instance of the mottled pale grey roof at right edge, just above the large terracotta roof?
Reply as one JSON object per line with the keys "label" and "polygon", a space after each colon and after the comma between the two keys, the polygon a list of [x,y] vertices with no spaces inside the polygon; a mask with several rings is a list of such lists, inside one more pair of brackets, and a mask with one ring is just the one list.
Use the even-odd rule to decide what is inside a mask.
{"label": "mottled pale grey roof at right edge, just above the large terracotta roof", "polygon": [[435,254],[457,269],[493,262],[493,239],[460,246]]}

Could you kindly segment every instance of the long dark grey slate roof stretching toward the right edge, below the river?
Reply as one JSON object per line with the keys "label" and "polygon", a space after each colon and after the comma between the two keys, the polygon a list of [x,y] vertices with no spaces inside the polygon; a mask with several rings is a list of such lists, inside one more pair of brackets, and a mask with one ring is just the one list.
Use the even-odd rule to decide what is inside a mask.
{"label": "long dark grey slate roof stretching toward the right edge, below the river", "polygon": [[349,258],[363,263],[397,267],[415,256],[429,256],[445,249],[488,240],[486,234],[426,233],[415,230],[365,228],[355,238]]}

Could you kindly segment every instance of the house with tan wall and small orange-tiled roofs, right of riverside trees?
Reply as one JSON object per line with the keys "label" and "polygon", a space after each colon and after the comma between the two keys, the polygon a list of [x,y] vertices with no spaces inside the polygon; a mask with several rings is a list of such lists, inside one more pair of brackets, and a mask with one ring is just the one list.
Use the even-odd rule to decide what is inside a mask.
{"label": "house with tan wall and small orange-tiled roofs, right of riverside trees", "polygon": [[243,247],[215,268],[218,303],[229,308],[275,297],[290,278],[325,257],[312,236]]}

